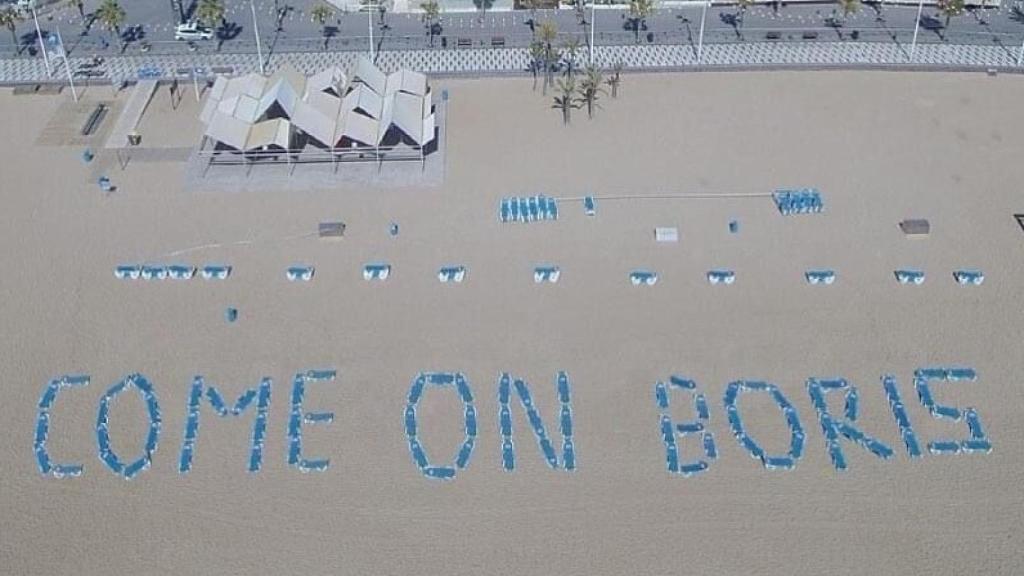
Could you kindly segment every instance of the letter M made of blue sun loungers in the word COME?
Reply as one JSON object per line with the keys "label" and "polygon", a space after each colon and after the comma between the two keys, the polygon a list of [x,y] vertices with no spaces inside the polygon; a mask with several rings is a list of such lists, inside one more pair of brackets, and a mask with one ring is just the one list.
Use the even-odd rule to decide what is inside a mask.
{"label": "letter M made of blue sun loungers in the word COME", "polygon": [[187,415],[185,417],[184,439],[181,441],[181,457],[178,460],[178,471],[187,474],[193,467],[193,455],[196,451],[196,441],[199,439],[200,406],[206,397],[217,416],[241,416],[246,409],[256,402],[256,417],[253,420],[252,449],[249,453],[249,471],[258,472],[263,465],[263,443],[266,438],[266,417],[270,407],[270,379],[263,378],[259,388],[246,388],[242,396],[230,406],[224,402],[220,392],[207,384],[202,376],[193,379],[188,393]]}

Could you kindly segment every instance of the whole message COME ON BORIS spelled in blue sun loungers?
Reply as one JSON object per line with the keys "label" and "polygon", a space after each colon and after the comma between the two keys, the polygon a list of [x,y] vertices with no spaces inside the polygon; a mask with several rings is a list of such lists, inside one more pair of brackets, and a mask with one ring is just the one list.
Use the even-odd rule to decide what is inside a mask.
{"label": "whole message COME ON BORIS spelled in blue sun loungers", "polygon": [[[329,424],[334,421],[333,412],[310,412],[304,408],[307,386],[333,382],[336,378],[334,370],[310,370],[296,374],[291,388],[288,425],[286,426],[288,465],[303,472],[324,471],[330,467],[328,458],[307,458],[303,452],[303,430],[306,426]],[[936,401],[936,383],[951,384],[971,382],[976,379],[976,373],[970,368],[924,368],[914,372],[913,386],[921,405],[935,418],[953,422],[963,421],[967,426],[967,437],[964,439],[934,440],[925,446],[932,454],[956,453],[989,453],[991,442],[981,423],[981,416],[974,408],[957,408]],[[44,388],[39,399],[36,417],[36,434],[33,451],[39,471],[44,476],[55,478],[74,478],[81,476],[84,466],[78,463],[56,462],[52,459],[47,441],[50,430],[50,410],[58,395],[68,388],[80,388],[89,384],[89,377],[83,375],[68,375],[51,380]],[[209,406],[212,415],[218,417],[239,417],[251,411],[254,413],[252,424],[252,441],[249,450],[250,472],[259,472],[263,465],[263,449],[267,435],[267,413],[270,407],[270,392],[272,381],[263,378],[260,383],[245,389],[233,404],[225,402],[224,397],[216,386],[208,383],[202,376],[196,376],[188,390],[185,410],[184,433],[178,457],[178,472],[188,474],[193,469],[200,437],[200,422],[203,407]],[[514,471],[516,467],[516,443],[513,435],[513,398],[518,399],[522,414],[532,429],[538,451],[547,465],[552,469],[573,471],[577,469],[577,449],[573,441],[573,412],[571,386],[568,375],[559,372],[555,376],[555,394],[558,400],[557,429],[561,436],[561,450],[548,436],[549,426],[541,410],[535,404],[529,384],[511,374],[502,373],[498,378],[498,431],[501,436],[500,462],[506,471]],[[451,390],[458,396],[463,404],[463,426],[465,438],[462,443],[452,448],[455,454],[452,460],[438,463],[428,455],[427,448],[420,440],[422,426],[417,408],[424,395],[443,394]],[[892,376],[882,378],[882,390],[888,400],[892,417],[896,423],[899,437],[903,442],[907,455],[920,458],[925,451],[918,441],[913,425],[907,415],[896,379]],[[145,417],[148,427],[141,451],[134,457],[125,459],[114,450],[111,442],[110,414],[112,406],[118,399],[129,393],[140,396],[145,406]],[[810,378],[807,381],[807,393],[814,408],[817,422],[824,438],[824,448],[837,470],[847,468],[846,453],[843,443],[848,441],[882,459],[892,458],[896,450],[883,441],[869,436],[857,425],[859,409],[859,392],[857,387],[842,378]],[[757,440],[757,434],[742,417],[744,397],[764,395],[778,408],[778,413],[790,431],[787,447],[770,449],[762,446]],[[681,396],[683,401],[690,401],[693,407],[694,419],[678,421],[670,414],[670,401],[674,396]],[[842,406],[835,409],[829,406],[829,396],[842,397]],[[719,457],[719,448],[715,435],[710,429],[711,409],[708,397],[698,392],[694,380],[682,376],[671,376],[667,382],[654,384],[654,405],[658,411],[658,423],[662,441],[665,446],[666,466],[674,475],[689,477],[707,471]],[[800,419],[797,408],[782,393],[781,388],[771,382],[757,380],[737,380],[730,382],[722,398],[726,420],[732,436],[739,447],[753,458],[760,461],[768,469],[793,469],[803,457],[807,434]],[[420,471],[430,479],[452,480],[460,469],[469,465],[476,446],[479,426],[476,406],[469,380],[459,372],[424,372],[417,375],[412,382],[402,413],[406,438],[412,461]],[[99,460],[112,472],[131,480],[147,469],[153,462],[162,431],[162,415],[154,385],[141,374],[132,374],[111,386],[101,397],[96,411],[96,449]],[[697,457],[685,459],[683,444],[687,438],[695,438],[698,442]],[[121,445],[123,446],[123,445]]]}

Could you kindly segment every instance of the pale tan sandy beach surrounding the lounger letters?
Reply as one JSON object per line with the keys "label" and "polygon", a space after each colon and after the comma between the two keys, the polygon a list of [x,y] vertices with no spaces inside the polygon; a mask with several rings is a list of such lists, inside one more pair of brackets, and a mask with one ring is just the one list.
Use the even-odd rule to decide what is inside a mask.
{"label": "pale tan sandy beach surrounding the lounger letters", "polygon": [[[186,190],[176,160],[85,165],[83,146],[39,143],[70,94],[0,91],[0,572],[1020,572],[1024,230],[1013,214],[1024,212],[1024,78],[629,75],[593,120],[575,111],[568,127],[529,79],[441,88],[441,186],[231,193]],[[190,93],[177,110],[158,93],[145,141],[196,146],[197,111]],[[97,189],[97,171],[115,193]],[[768,197],[639,198],[800,187],[821,191],[821,214],[782,216]],[[564,200],[555,222],[498,221],[501,198],[534,194],[594,195],[598,211]],[[928,218],[931,235],[905,238],[897,224],[908,217]],[[345,238],[310,236],[322,220],[344,220]],[[654,227],[677,227],[680,241],[656,244]],[[193,249],[210,244],[221,246]],[[112,274],[142,261],[223,262],[232,274]],[[391,277],[365,281],[369,261],[389,262]],[[298,263],[315,266],[311,282],[286,280]],[[560,266],[557,284],[534,283],[540,263]],[[439,283],[444,264],[465,265],[466,280]],[[735,284],[710,285],[716,268],[734,270]],[[836,284],[808,285],[816,268],[834,269]],[[898,284],[901,268],[927,281]],[[657,284],[631,285],[635,269],[656,271]],[[984,271],[984,284],[958,285],[962,269]],[[225,322],[227,306],[238,322]],[[977,370],[974,382],[934,390],[978,411],[990,454],[907,456],[884,374],[898,379],[923,443],[968,437],[918,402],[913,372],[929,366]],[[306,408],[335,420],[307,426],[303,450],[331,466],[301,474],[286,459],[289,394],[297,372],[318,368],[338,378],[310,386]],[[529,382],[558,439],[560,370],[572,383],[578,469],[546,465],[515,405],[517,466],[504,471],[499,373]],[[475,396],[478,442],[453,482],[424,478],[410,456],[402,410],[421,371],[462,372]],[[152,468],[126,482],[97,458],[94,426],[100,397],[133,372],[153,381],[163,427]],[[48,447],[85,471],[57,480],[40,475],[32,438],[40,395],[67,373],[92,381],[61,393]],[[246,471],[252,412],[217,418],[204,405],[195,467],[179,475],[198,374],[232,402],[273,379],[259,474]],[[696,380],[711,405],[719,457],[693,478],[666,469],[654,383],[670,374]],[[855,384],[858,425],[894,457],[844,441],[849,469],[838,472],[805,387],[812,376]],[[766,470],[733,439],[723,394],[743,378],[776,383],[797,408],[807,443],[796,469]],[[682,394],[671,409],[693,418]],[[432,459],[454,457],[462,410],[455,394],[424,397]],[[742,410],[762,445],[784,451],[774,404],[744,397]],[[137,454],[140,398],[119,398],[111,422],[115,448]],[[694,440],[681,446],[699,455]]]}

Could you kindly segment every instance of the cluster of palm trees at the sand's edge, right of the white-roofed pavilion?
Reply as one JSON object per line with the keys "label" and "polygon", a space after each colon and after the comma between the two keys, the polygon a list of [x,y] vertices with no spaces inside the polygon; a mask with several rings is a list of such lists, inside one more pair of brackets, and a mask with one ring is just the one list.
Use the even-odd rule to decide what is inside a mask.
{"label": "cluster of palm trees at the sand's edge, right of the white-roofed pavilion", "polygon": [[[529,45],[529,71],[534,75],[534,90],[537,90],[538,75],[543,73],[542,94],[547,95],[549,86],[556,88],[552,108],[562,113],[564,124],[570,123],[573,110],[585,107],[587,117],[594,118],[598,100],[602,94],[607,93],[605,86],[611,89],[612,98],[618,97],[623,65],[615,64],[608,77],[593,63],[581,70],[578,61],[580,40],[572,36],[558,46],[557,38],[558,27],[552,20],[541,22],[535,28],[535,39]],[[562,77],[555,79],[558,72]]]}

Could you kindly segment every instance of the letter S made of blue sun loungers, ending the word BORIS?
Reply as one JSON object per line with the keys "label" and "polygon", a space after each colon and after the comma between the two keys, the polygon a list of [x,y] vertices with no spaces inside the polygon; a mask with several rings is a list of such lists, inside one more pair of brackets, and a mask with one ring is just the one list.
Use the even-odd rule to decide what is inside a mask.
{"label": "letter S made of blue sun loungers, ending the word BORIS", "polygon": [[935,402],[931,382],[973,382],[975,371],[971,368],[922,368],[913,373],[913,387],[918,399],[935,418],[967,422],[971,438],[963,441],[936,440],[928,443],[928,451],[932,454],[956,454],[959,452],[992,451],[992,445],[981,425],[981,417],[974,408],[961,410],[953,406],[945,406]]}

